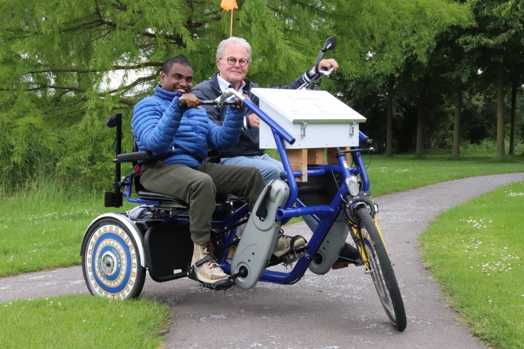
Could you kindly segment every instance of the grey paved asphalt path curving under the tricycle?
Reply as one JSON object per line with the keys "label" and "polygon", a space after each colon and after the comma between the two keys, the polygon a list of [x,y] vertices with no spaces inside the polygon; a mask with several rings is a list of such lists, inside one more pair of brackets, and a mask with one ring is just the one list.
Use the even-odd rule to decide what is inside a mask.
{"label": "grey paved asphalt path curving under the tricycle", "polygon": [[[454,180],[375,198],[406,308],[404,332],[390,325],[363,267],[323,276],[308,270],[291,286],[260,282],[250,290],[217,292],[189,279],[157,283],[148,277],[142,297],[173,311],[166,348],[485,348],[446,307],[421,263],[417,237],[442,211],[519,180],[524,173]],[[308,235],[303,223],[285,231]],[[0,279],[0,302],[87,292],[80,267]]]}

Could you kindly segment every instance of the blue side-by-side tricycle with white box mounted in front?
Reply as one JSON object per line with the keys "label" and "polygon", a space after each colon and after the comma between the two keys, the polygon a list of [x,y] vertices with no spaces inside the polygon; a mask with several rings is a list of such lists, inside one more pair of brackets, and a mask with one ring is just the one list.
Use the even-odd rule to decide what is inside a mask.
{"label": "blue side-by-side tricycle with white box mounted in front", "polygon": [[[335,43],[333,37],[325,41],[316,67]],[[329,272],[349,234],[387,317],[402,331],[406,312],[361,156],[374,151],[373,141],[358,129],[363,116],[318,89],[316,82],[331,71],[316,71],[316,77],[298,90],[253,89],[260,107],[234,89],[214,101],[201,101],[222,105],[241,99],[263,121],[260,147],[276,148],[285,169],[280,179],[266,186],[252,212],[243,198],[216,198],[211,236],[217,262],[234,287],[249,289],[257,282],[290,285],[308,269],[317,275]],[[121,151],[121,114],[108,117],[106,124],[116,127],[116,158],[114,190],[105,193],[105,206],[121,207],[123,197],[137,206],[102,214],[88,226],[81,246],[83,275],[93,295],[136,298],[146,270],[157,282],[191,273],[189,205],[141,187],[136,166],[147,161],[150,152]],[[126,162],[134,165],[133,170],[121,176],[121,164]],[[308,224],[312,230],[308,243],[275,258],[272,250],[282,228],[293,217],[304,216],[313,221]],[[281,265],[285,271],[278,268]]]}

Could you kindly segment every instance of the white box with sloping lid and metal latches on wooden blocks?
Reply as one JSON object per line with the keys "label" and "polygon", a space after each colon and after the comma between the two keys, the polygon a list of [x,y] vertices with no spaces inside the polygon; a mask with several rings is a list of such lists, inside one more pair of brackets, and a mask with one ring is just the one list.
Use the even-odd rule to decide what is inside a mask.
{"label": "white box with sloping lid and metal latches on wooden blocks", "polygon": [[[366,118],[327,91],[252,89],[260,109],[295,138],[286,148],[358,145],[358,123]],[[269,126],[260,121],[260,148],[276,148]]]}

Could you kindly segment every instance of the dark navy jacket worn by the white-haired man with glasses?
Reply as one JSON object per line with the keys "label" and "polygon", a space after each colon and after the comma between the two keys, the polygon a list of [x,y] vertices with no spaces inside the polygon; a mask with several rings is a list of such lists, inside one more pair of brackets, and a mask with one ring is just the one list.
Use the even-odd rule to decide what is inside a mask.
{"label": "dark navy jacket worn by the white-haired man with glasses", "polygon": [[[219,73],[216,72],[213,74],[213,78],[209,80],[204,80],[193,87],[191,90],[191,93],[197,96],[200,100],[214,100],[216,97],[220,96],[222,94],[222,91],[220,91],[219,82],[217,80],[217,75]],[[304,74],[305,75],[305,74]],[[287,89],[287,90],[296,90],[298,89],[303,83],[305,83],[308,80],[305,80],[304,75],[301,75],[300,78],[295,79],[292,83],[286,86],[282,87],[275,87],[274,89]],[[258,97],[255,96],[252,92],[252,88],[259,88],[260,85],[254,82],[251,82],[249,80],[244,79],[244,82],[246,85],[243,88],[244,94],[247,94],[249,96],[249,99],[255,103],[258,104]],[[222,125],[224,122],[224,118],[226,115],[226,107],[222,106],[220,108],[215,108],[212,105],[204,105],[203,106],[208,111],[208,116],[211,118],[211,120],[217,124]],[[246,116],[251,114],[252,112],[249,111],[246,108]],[[249,125],[249,123],[247,123]],[[222,150],[220,151],[220,156],[223,158],[230,158],[235,156],[256,156],[256,155],[262,155],[264,153],[264,149],[260,149],[260,132],[258,128],[248,128],[242,132],[242,135],[240,136],[240,140],[238,141],[238,144],[228,150]]]}

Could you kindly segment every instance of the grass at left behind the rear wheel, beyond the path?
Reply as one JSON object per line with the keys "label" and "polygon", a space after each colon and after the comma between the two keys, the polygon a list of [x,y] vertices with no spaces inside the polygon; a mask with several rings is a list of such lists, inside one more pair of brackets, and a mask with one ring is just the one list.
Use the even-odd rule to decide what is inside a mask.
{"label": "grass at left behind the rear wheel, beyond the path", "polygon": [[[127,203],[122,210],[132,208]],[[80,244],[89,223],[104,212],[103,193],[67,198],[31,191],[0,203],[0,277],[81,263]]]}

